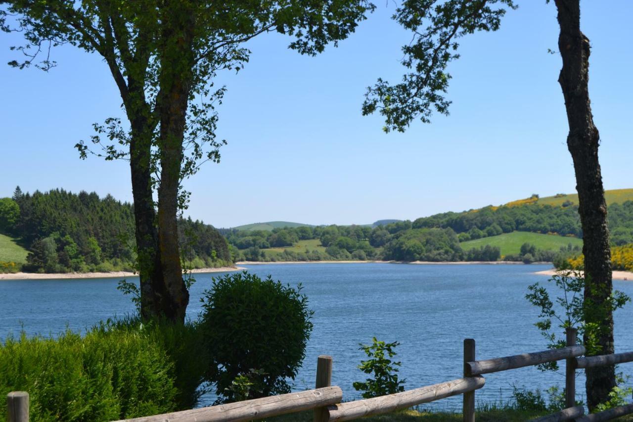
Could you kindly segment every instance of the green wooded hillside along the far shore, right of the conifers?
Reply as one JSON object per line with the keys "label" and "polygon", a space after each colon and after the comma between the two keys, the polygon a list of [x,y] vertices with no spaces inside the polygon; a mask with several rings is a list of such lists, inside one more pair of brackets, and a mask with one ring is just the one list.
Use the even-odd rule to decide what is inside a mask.
{"label": "green wooded hillside along the far shore, right of the conifers", "polygon": [[[633,202],[612,206],[610,212],[618,224],[633,222]],[[546,229],[558,229],[567,235],[582,234],[575,207],[527,205],[520,207],[486,207],[463,213],[437,214],[416,221],[394,221],[377,227],[370,226],[303,226],[284,227],[273,231],[239,231],[222,229],[230,243],[236,261],[311,261],[311,260],[397,260],[397,261],[496,261],[554,262],[568,259],[579,248],[571,245],[560,250],[540,250],[525,243],[517,254],[501,257],[496,246],[481,246],[465,250],[460,243],[486,236],[498,236],[515,230],[544,229],[547,219],[553,224]],[[615,220],[614,220],[615,221]],[[615,223],[614,223],[615,224]],[[567,227],[567,228],[565,228]],[[615,241],[623,241],[633,231],[620,224]],[[461,232],[458,232],[461,230]],[[542,232],[541,232],[542,233]],[[544,233],[553,233],[545,231]],[[560,233],[559,233],[560,234]],[[312,249],[290,246],[305,240],[318,240]],[[306,245],[306,243],[303,243]],[[272,252],[270,248],[285,248]]]}

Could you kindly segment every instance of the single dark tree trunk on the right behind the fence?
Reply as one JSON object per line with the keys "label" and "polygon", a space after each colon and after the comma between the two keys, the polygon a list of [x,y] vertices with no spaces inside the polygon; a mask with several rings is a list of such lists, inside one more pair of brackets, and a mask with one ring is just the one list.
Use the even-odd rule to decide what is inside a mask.
{"label": "single dark tree trunk on the right behind the fence", "polygon": [[[606,221],[605,191],[598,163],[598,129],[589,101],[589,39],[580,32],[580,1],[556,0],[560,37],[558,48],[563,58],[558,82],[563,89],[569,134],[567,147],[572,154],[579,198],[580,224],[585,256],[586,322],[598,323],[600,350],[590,354],[613,353],[613,313],[605,300],[611,295],[611,251]],[[585,342],[589,340],[587,335]],[[587,405],[592,410],[608,400],[615,387],[613,366],[587,368]]]}

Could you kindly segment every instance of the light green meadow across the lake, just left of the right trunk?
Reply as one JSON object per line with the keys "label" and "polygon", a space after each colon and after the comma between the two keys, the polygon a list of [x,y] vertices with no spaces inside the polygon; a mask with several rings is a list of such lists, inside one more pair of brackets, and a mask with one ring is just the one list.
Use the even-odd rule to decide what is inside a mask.
{"label": "light green meadow across the lake, just left of the right trunk", "polygon": [[479,246],[499,246],[501,255],[517,254],[521,250],[523,243],[531,243],[538,249],[543,250],[559,250],[561,246],[581,246],[582,239],[568,238],[566,236],[557,236],[556,234],[540,234],[529,233],[527,231],[513,231],[512,233],[499,234],[499,236],[491,236],[477,240],[469,240],[460,243],[463,250],[479,248]]}

